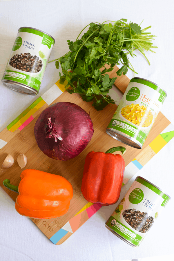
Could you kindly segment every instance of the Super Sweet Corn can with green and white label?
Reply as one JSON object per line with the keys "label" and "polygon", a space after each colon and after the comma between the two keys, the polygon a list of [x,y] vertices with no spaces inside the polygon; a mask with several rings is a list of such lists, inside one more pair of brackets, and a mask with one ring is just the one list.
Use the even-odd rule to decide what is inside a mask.
{"label": "Super Sweet Corn can with green and white label", "polygon": [[166,91],[152,81],[131,79],[106,133],[141,149],[166,97]]}

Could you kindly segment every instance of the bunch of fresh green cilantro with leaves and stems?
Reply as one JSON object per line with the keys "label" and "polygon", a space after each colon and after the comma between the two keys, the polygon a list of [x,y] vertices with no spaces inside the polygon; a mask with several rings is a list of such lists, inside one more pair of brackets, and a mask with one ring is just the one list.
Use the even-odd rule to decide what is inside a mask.
{"label": "bunch of fresh green cilantro with leaves and stems", "polygon": [[[104,23],[106,22],[113,21]],[[128,54],[133,56],[133,51],[139,50],[147,59],[144,50],[154,52],[151,48],[156,48],[151,42],[154,35],[144,33],[151,26],[141,30],[138,24],[126,22],[127,19],[120,19],[113,25],[90,23],[88,31],[81,39],[78,39],[79,35],[87,26],[76,41],[67,41],[69,52],[56,59],[56,68],[59,68],[60,63],[63,73],[61,75],[59,72],[60,84],[67,80],[67,86],[72,87],[68,92],[79,93],[86,102],[93,101],[97,110],[102,110],[109,103],[115,103],[108,92],[117,77],[109,78],[107,72],[121,62],[123,66],[117,71],[117,75],[125,75],[130,68]],[[105,64],[110,64],[110,68],[106,69]],[[104,70],[100,70],[102,67]],[[130,69],[136,73],[133,67]]]}

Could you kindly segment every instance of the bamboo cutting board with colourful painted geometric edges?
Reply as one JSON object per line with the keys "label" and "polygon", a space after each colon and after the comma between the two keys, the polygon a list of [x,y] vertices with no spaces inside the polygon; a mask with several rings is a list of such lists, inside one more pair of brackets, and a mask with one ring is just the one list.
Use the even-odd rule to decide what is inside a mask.
{"label": "bamboo cutting board with colourful painted geometric edges", "polygon": [[[109,76],[115,77],[118,69],[119,68],[115,66],[114,70],[108,73]],[[122,75],[117,77],[115,85],[124,93],[129,81],[128,77]],[[63,87],[59,85],[58,82],[57,86],[59,86],[62,92]],[[57,86],[56,88],[58,88]],[[9,179],[11,184],[19,185],[22,171],[17,164],[17,156],[20,153],[25,154],[28,160],[23,170],[37,169],[65,177],[73,186],[73,199],[70,202],[68,212],[59,218],[47,220],[31,219],[52,243],[61,244],[101,208],[101,205],[98,203],[92,204],[87,202],[81,193],[81,181],[87,153],[89,151],[106,152],[111,147],[124,146],[126,148],[126,153],[123,155],[126,164],[125,184],[170,141],[174,136],[174,126],[172,126],[169,120],[160,112],[143,148],[139,150],[122,144],[105,132],[117,108],[116,104],[108,105],[102,111],[97,111],[93,108],[91,102],[87,103],[83,101],[78,94],[69,94],[67,91],[64,91],[51,104],[56,102],[72,102],[79,105],[87,113],[90,112],[94,126],[94,134],[88,146],[81,154],[68,161],[54,160],[42,153],[35,141],[33,130],[37,118],[40,113],[48,107],[48,104],[42,97],[39,97],[0,133],[0,165],[2,165],[8,153],[14,157],[13,166],[8,170],[4,170],[1,174],[0,185],[15,201],[18,194],[6,189],[6,187],[3,186],[3,180]]]}

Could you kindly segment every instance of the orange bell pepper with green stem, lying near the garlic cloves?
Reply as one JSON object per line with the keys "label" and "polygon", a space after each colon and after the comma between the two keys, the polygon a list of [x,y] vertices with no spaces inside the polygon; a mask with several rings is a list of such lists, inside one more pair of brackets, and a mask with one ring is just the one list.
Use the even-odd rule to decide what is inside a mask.
{"label": "orange bell pepper with green stem, lying near the garlic cloves", "polygon": [[56,218],[64,215],[73,197],[73,187],[64,177],[44,171],[26,169],[21,173],[18,186],[3,182],[4,186],[18,192],[15,209],[29,218]]}

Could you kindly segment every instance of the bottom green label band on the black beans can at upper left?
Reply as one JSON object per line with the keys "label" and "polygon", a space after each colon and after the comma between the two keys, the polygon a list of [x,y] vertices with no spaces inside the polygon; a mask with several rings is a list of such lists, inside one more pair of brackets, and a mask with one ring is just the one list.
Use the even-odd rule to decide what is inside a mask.
{"label": "bottom green label band on the black beans can at upper left", "polygon": [[[17,81],[17,82],[19,82],[21,84],[28,85],[31,88],[34,88],[35,90],[39,91],[41,82],[38,79],[36,79],[36,78],[34,78],[34,77],[30,76],[30,75],[26,75],[24,73],[21,73],[21,72],[17,73],[15,71],[11,71],[11,70],[6,70],[6,72],[11,72],[11,73],[13,73],[14,76],[6,74],[2,78],[2,80]],[[19,77],[18,77],[18,75],[19,75]],[[20,75],[24,75],[25,76],[24,79],[22,79],[20,77]]]}

